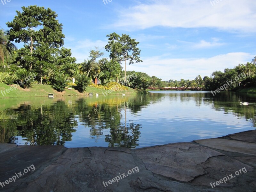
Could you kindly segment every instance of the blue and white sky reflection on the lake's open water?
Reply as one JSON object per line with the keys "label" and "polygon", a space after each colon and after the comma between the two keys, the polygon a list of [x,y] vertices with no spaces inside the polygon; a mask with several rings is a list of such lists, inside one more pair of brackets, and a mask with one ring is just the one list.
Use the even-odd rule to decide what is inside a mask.
{"label": "blue and white sky reflection on the lake's open water", "polygon": [[[197,99],[201,101],[196,102]],[[127,119],[133,119],[134,124],[142,123],[140,147],[216,138],[254,129],[245,117],[238,118],[223,109],[216,110],[202,98],[182,100],[179,96],[173,99],[166,95],[160,101],[151,102],[135,116],[126,111]]]}

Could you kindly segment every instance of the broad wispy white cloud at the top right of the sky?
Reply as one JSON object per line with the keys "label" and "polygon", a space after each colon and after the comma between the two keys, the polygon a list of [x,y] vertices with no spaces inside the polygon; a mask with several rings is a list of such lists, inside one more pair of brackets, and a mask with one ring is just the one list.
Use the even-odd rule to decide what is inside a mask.
{"label": "broad wispy white cloud at the top right of the sky", "polygon": [[152,0],[119,10],[111,28],[208,27],[249,33],[256,31],[255,7],[256,1],[249,0],[223,0],[214,6],[210,0]]}

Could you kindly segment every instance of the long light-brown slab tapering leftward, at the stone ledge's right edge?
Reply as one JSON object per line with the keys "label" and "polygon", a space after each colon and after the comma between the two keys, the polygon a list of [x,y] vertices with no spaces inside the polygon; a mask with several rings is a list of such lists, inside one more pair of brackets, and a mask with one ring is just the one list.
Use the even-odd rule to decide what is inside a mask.
{"label": "long light-brown slab tapering leftward, at the stone ledge's right edge", "polygon": [[224,151],[256,155],[256,143],[248,143],[228,139],[203,139],[195,140],[195,142],[207,147],[220,149]]}

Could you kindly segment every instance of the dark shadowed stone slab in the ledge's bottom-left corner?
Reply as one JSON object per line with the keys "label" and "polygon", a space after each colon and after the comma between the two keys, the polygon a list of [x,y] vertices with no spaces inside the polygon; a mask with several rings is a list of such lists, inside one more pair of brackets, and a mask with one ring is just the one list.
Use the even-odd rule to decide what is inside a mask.
{"label": "dark shadowed stone slab in the ledge's bottom-left corner", "polygon": [[15,173],[19,176],[19,172],[22,174],[23,170],[32,164],[36,168],[35,171],[19,176],[20,178],[4,186],[2,190],[15,191],[22,186],[27,186],[26,182],[35,179],[35,176],[39,175],[46,165],[54,161],[66,149],[62,146],[17,146],[0,153],[0,182],[15,176]]}

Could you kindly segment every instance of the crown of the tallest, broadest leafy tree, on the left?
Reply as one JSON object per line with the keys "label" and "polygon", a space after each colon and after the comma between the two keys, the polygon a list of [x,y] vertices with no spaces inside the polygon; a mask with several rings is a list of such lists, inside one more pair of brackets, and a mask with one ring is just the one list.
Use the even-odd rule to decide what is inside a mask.
{"label": "crown of the tallest, broadest leafy tree, on the left", "polygon": [[[26,62],[29,61],[29,69],[41,70],[44,62],[49,62],[54,50],[57,51],[64,44],[62,24],[56,19],[56,12],[50,8],[32,5],[22,7],[22,11],[16,11],[13,21],[6,23],[10,28],[7,34],[10,41],[24,43],[22,54],[27,59]],[[36,52],[37,49],[39,50]],[[36,67],[38,64],[39,67]]]}

